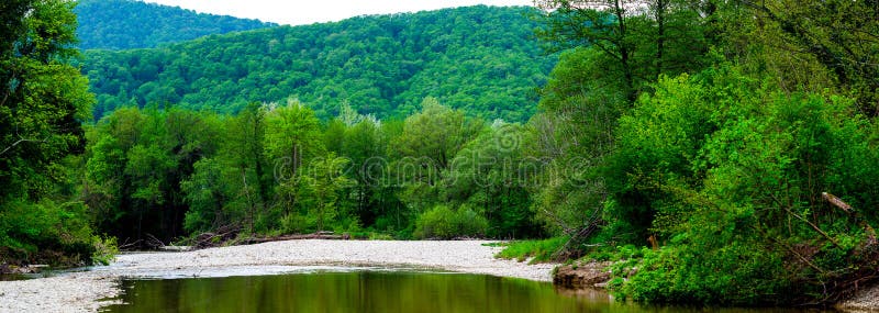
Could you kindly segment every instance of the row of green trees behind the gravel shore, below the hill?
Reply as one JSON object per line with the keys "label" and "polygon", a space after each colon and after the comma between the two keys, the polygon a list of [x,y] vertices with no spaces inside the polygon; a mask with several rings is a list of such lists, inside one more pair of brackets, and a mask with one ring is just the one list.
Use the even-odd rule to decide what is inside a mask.
{"label": "row of green trees behind the gravel shore, below the hill", "polygon": [[[467,119],[435,99],[404,121],[344,109],[325,123],[294,100],[252,103],[234,116],[116,110],[89,128],[84,200],[123,243],[218,228],[401,238],[542,233],[524,190],[490,168],[513,161],[515,146],[494,138],[521,125]],[[497,161],[466,166],[475,157]]]}

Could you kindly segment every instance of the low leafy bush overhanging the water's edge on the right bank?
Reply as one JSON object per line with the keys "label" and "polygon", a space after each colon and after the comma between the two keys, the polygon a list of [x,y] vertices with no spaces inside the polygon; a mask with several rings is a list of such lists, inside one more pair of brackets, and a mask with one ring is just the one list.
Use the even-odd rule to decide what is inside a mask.
{"label": "low leafy bush overhanging the water's edge on the right bank", "polygon": [[[732,235],[732,233],[726,234]],[[644,248],[643,259],[630,259],[614,268],[626,282],[612,286],[616,297],[644,302],[713,303],[725,305],[771,304],[783,302],[790,281],[786,279],[782,258],[756,242],[736,242],[731,237],[681,239],[658,250]],[[694,242],[699,241],[699,242]],[[631,275],[630,273],[634,273]]]}

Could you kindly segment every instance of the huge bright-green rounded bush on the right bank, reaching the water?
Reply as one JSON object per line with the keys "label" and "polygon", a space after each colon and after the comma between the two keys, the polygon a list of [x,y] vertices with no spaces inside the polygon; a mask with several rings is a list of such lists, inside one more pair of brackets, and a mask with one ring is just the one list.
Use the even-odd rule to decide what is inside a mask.
{"label": "huge bright-green rounded bush on the right bank, reaching the water", "polygon": [[621,295],[832,302],[845,292],[834,286],[869,265],[857,251],[863,227],[839,222],[846,214],[821,199],[838,191],[855,208],[876,205],[879,152],[867,144],[869,122],[852,114],[849,99],[748,85],[723,67],[661,79],[621,119],[608,214],[642,232],[635,238],[667,243],[645,249],[636,271],[614,271],[628,279],[613,284]]}

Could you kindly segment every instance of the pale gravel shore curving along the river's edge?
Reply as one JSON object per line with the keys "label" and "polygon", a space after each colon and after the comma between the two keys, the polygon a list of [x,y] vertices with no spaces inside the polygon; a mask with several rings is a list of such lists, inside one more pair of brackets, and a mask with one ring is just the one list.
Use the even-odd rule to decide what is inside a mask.
{"label": "pale gravel shore curving along the river's edge", "polygon": [[555,265],[496,259],[489,242],[289,241],[188,253],[126,254],[110,266],[0,282],[0,312],[96,312],[123,278],[272,275],[314,266],[400,267],[550,281]]}

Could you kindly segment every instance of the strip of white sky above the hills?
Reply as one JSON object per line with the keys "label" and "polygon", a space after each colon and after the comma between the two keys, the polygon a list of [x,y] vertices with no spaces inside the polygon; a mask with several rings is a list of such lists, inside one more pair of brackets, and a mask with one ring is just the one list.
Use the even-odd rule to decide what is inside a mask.
{"label": "strip of white sky above the hills", "polygon": [[258,19],[278,24],[311,24],[357,15],[416,12],[464,5],[532,5],[533,0],[142,0],[201,13]]}

